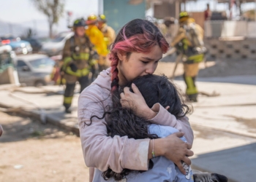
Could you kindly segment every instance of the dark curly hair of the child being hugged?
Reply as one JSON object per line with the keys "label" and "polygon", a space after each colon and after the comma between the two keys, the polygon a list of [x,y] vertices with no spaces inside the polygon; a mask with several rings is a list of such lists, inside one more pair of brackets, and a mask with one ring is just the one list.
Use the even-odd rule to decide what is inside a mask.
{"label": "dark curly hair of the child being hugged", "polygon": [[[129,87],[131,92],[132,83],[138,87],[149,108],[154,106],[155,103],[160,103],[163,107],[170,106],[167,111],[176,116],[177,119],[190,112],[189,107],[184,103],[181,94],[166,76],[140,76],[124,86]],[[119,135],[135,139],[158,138],[157,135],[148,133],[148,125],[151,124],[150,122],[136,116],[131,109],[123,108],[121,106],[120,93],[123,92],[124,87],[119,87],[118,90],[113,92],[113,106],[108,107],[108,111],[106,111],[101,118],[98,116],[91,116],[91,119],[93,117],[97,117],[98,119],[105,118],[108,134],[111,137]],[[154,163],[149,160],[148,169],[152,169],[153,166]],[[108,168],[108,170],[102,173],[102,177],[106,181],[109,178],[120,181],[131,172],[142,173],[143,171],[124,169],[121,173],[115,173]]]}

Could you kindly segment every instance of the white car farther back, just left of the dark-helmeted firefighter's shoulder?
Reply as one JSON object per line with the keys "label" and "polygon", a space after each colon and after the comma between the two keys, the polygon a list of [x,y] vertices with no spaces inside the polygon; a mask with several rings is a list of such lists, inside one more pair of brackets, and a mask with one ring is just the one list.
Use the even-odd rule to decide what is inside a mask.
{"label": "white car farther back, just left of the dark-helmeted firefighter's shoulder", "polygon": [[40,50],[40,52],[49,56],[61,55],[65,42],[73,35],[74,32],[70,31],[59,33],[55,39],[45,42],[45,44],[42,44],[42,49]]}

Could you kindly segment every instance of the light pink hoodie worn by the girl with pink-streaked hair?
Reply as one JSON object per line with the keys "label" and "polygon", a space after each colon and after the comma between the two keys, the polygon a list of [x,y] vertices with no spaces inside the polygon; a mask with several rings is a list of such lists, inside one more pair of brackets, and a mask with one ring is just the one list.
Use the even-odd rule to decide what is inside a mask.
{"label": "light pink hoodie worn by the girl with pink-streaked hair", "polygon": [[[135,140],[127,136],[108,136],[105,119],[92,119],[92,115],[102,117],[106,106],[112,104],[110,95],[110,68],[102,71],[97,79],[80,94],[78,100],[78,122],[83,157],[88,167],[96,167],[101,171],[110,167],[116,173],[124,168],[132,170],[148,170],[149,139]],[[159,103],[157,103],[159,105]],[[175,127],[185,133],[188,143],[193,142],[194,135],[187,116],[176,119],[165,108],[159,105],[157,116],[151,123]]]}

